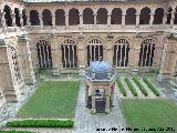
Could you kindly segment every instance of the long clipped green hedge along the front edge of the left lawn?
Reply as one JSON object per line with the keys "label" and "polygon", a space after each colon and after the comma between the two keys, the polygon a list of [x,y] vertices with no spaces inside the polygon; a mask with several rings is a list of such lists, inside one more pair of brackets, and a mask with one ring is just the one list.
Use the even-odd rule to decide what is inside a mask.
{"label": "long clipped green hedge along the front edge of the left lawn", "polygon": [[73,127],[72,120],[22,120],[7,122],[8,127]]}

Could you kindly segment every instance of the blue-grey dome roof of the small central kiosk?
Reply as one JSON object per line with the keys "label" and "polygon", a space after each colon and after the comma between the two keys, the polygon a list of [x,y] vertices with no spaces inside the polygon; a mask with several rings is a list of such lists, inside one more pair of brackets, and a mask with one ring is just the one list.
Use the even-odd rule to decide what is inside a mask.
{"label": "blue-grey dome roof of the small central kiosk", "polygon": [[114,68],[105,61],[91,62],[87,68],[87,75],[92,78],[92,73],[95,73],[95,80],[106,80],[107,73],[111,78],[115,74]]}

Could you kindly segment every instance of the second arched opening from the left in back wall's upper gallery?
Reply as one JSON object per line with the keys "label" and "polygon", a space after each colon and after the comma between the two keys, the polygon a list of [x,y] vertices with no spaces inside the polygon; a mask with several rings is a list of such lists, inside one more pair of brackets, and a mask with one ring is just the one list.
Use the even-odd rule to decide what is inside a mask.
{"label": "second arched opening from the left in back wall's upper gallery", "polygon": [[52,16],[49,9],[42,11],[43,25],[52,25]]}

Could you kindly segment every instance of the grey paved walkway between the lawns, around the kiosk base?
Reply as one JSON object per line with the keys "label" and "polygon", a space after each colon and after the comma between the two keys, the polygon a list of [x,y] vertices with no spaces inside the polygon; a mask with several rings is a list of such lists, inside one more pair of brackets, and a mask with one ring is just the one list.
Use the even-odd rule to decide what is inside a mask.
{"label": "grey paved walkway between the lawns, around the kiosk base", "polygon": [[[85,90],[84,83],[83,81],[81,81],[75,112],[75,123],[72,133],[127,133],[125,131],[119,131],[121,129],[125,129],[126,124],[118,105],[116,89],[114,105],[115,106],[112,110],[111,114],[91,114],[90,110],[85,108]],[[112,127],[117,129],[117,131],[113,131]],[[111,130],[96,131],[96,129]]]}

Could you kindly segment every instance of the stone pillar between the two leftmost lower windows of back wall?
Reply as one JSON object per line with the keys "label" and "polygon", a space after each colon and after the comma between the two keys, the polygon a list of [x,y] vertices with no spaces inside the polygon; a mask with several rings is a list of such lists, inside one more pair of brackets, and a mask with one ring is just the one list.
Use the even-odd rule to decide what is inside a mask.
{"label": "stone pillar between the two leftmost lower windows of back wall", "polygon": [[52,49],[53,75],[58,76],[58,75],[60,75],[60,73],[59,73],[59,58],[60,58],[60,55],[59,55],[59,51],[58,51],[56,37],[54,34],[51,37],[51,49]]}

